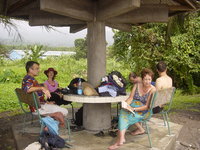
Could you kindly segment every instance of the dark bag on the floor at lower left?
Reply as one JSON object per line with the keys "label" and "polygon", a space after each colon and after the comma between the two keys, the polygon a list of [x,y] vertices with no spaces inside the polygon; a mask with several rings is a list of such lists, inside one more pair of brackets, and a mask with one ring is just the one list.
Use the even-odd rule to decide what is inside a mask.
{"label": "dark bag on the floor at lower left", "polygon": [[42,131],[39,137],[39,143],[42,145],[42,148],[45,148],[45,150],[65,147],[65,140],[49,131]]}

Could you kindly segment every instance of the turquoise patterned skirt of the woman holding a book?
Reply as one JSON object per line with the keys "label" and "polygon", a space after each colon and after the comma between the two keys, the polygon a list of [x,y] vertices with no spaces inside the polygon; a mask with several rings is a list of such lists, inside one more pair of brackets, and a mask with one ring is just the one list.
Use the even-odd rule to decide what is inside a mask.
{"label": "turquoise patterned skirt of the woman holding a book", "polygon": [[[133,100],[130,106],[141,107],[141,106],[144,106],[144,104],[139,100]],[[135,112],[135,115],[134,115],[130,111],[121,109],[120,115],[119,115],[118,129],[119,130],[128,129],[129,126],[137,122],[141,122],[142,119],[145,118],[147,113],[148,113],[148,110],[145,110],[145,111]]]}

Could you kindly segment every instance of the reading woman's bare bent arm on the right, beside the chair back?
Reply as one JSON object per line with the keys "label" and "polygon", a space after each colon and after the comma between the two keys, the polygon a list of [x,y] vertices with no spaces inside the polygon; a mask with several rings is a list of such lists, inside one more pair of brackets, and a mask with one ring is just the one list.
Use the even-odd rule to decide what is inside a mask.
{"label": "reading woman's bare bent arm on the right, beside the chair back", "polygon": [[131,107],[131,109],[132,109],[133,111],[144,111],[144,110],[149,109],[149,106],[150,106],[150,103],[151,103],[151,99],[152,99],[153,93],[154,93],[155,91],[156,91],[156,88],[153,87],[153,88],[151,89],[150,93],[149,93],[148,98],[147,98],[147,103],[146,103],[146,105],[141,106],[141,107]]}

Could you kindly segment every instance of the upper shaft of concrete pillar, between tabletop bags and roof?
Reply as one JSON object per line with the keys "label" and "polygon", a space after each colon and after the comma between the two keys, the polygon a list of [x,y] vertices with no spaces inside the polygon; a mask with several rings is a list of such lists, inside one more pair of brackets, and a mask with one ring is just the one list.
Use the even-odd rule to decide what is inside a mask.
{"label": "upper shaft of concrete pillar, between tabletop bags and roof", "polygon": [[89,83],[96,87],[106,75],[105,23],[89,22],[87,40],[87,77]]}

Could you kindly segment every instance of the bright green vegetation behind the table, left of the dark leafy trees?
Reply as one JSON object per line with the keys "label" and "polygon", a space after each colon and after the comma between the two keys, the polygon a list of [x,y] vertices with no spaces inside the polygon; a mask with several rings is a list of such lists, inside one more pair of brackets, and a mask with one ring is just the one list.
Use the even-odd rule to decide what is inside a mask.
{"label": "bright green vegetation behind the table, left of the dark leafy trees", "polygon": [[[38,59],[40,63],[40,75],[36,78],[40,83],[44,82],[47,78],[44,75],[44,70],[49,67],[54,67],[58,71],[56,80],[61,87],[69,85],[70,81],[75,77],[82,77],[84,79],[87,75],[87,61],[86,59],[79,59],[70,56],[48,57],[47,59]],[[129,73],[128,69],[124,69],[123,65],[115,62],[114,59],[107,61],[107,72],[119,70],[124,76]],[[14,89],[21,87],[21,81],[25,71],[24,60],[6,60],[4,65],[0,66],[0,112],[12,111],[19,109],[17,97]]]}

